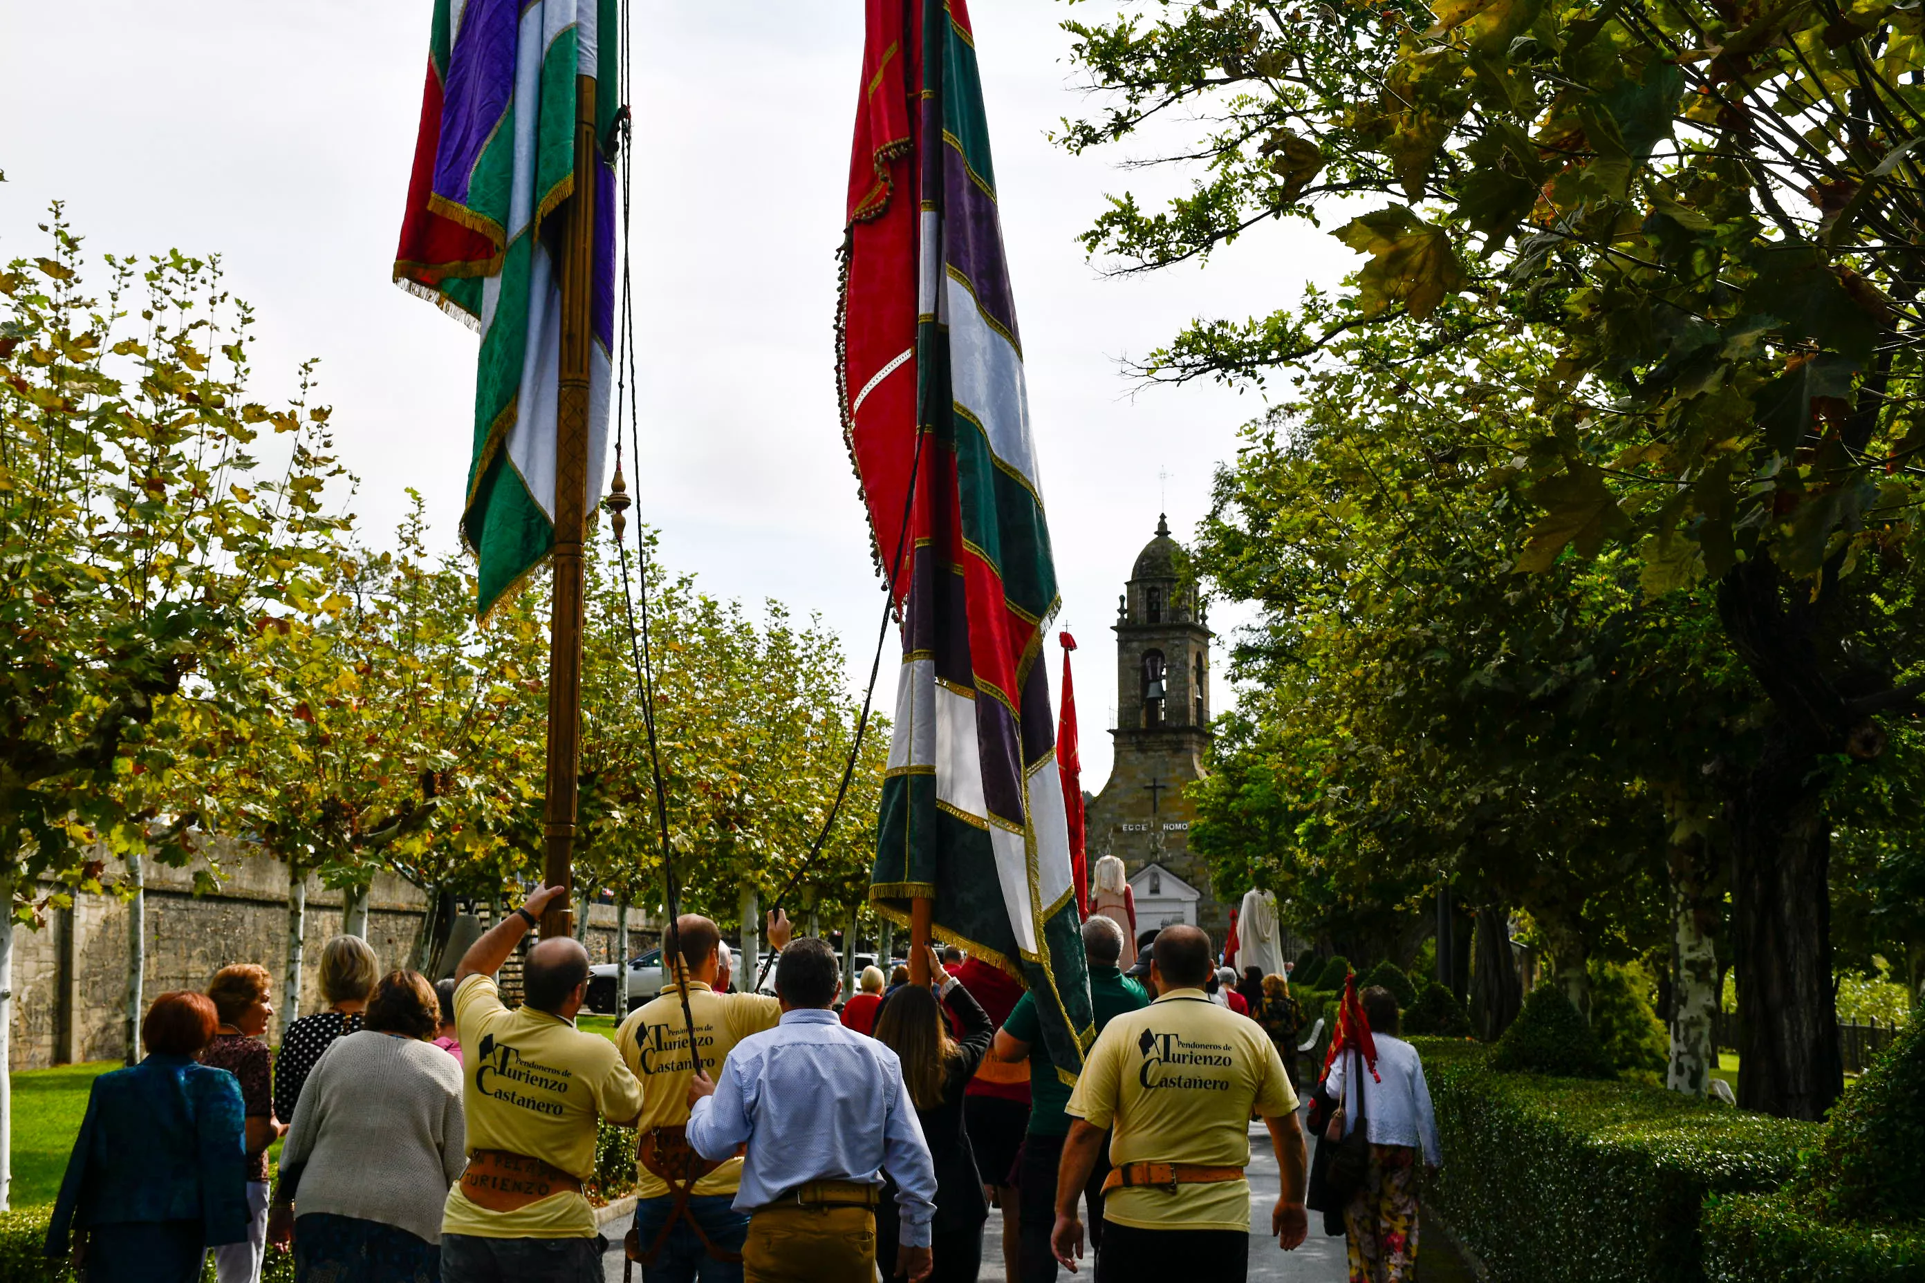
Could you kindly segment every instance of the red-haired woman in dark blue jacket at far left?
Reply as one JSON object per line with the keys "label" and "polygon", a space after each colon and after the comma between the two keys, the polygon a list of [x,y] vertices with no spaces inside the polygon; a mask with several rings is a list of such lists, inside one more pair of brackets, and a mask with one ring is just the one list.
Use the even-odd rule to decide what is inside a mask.
{"label": "red-haired woman in dark blue jacket at far left", "polygon": [[194,1283],[206,1248],[246,1241],[241,1083],[194,1060],[218,1027],[206,994],[164,993],[146,1060],[94,1079],[46,1227],[89,1283]]}

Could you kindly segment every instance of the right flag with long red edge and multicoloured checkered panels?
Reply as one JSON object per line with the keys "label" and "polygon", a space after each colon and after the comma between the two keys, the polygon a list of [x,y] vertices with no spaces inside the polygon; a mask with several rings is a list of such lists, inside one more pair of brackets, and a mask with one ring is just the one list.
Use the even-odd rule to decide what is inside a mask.
{"label": "right flag with long red edge and multicoloured checkered panels", "polygon": [[903,619],[870,898],[897,921],[928,898],[939,939],[1028,985],[1072,1075],[1095,1018],[1043,654],[1057,571],[962,0],[868,0],[847,219],[843,431]]}

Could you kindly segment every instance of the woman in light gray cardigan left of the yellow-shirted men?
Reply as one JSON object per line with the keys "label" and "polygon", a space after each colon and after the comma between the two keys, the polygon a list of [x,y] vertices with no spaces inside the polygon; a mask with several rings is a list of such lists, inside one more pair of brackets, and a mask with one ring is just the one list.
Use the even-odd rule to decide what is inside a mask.
{"label": "woman in light gray cardigan left of the yellow-shirted men", "polygon": [[296,1279],[439,1283],[441,1206],[466,1162],[462,1066],[429,1043],[439,1021],[427,979],[393,971],[308,1075],[268,1227],[293,1239]]}

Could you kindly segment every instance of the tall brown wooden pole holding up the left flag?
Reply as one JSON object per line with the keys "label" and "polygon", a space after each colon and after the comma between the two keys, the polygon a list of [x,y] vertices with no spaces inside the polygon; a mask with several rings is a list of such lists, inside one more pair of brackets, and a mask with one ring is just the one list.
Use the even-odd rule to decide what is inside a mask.
{"label": "tall brown wooden pole holding up the left flag", "polygon": [[595,77],[576,77],[576,183],[562,240],[562,352],[554,431],[554,598],[549,617],[549,779],[543,881],[568,887],[543,939],[574,935],[576,773],[581,756],[581,541],[589,506],[589,352],[595,300]]}

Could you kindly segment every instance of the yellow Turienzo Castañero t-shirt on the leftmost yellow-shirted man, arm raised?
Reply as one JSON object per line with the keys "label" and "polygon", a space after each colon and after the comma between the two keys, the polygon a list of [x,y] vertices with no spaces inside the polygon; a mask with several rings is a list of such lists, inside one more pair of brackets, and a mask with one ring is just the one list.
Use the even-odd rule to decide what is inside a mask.
{"label": "yellow Turienzo Casta\u00f1ero t-shirt on the leftmost yellow-shirted man, arm raised", "polygon": [[[595,1119],[626,1125],[641,1112],[641,1083],[608,1039],[531,1006],[510,1012],[491,975],[470,975],[454,991],[454,1027],[470,1154],[508,1150],[587,1179],[595,1175]],[[576,1191],[516,1212],[489,1212],[468,1202],[456,1181],[441,1233],[593,1239],[597,1231],[589,1200]]]}

